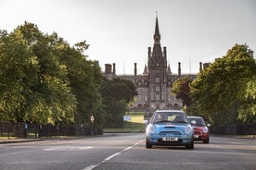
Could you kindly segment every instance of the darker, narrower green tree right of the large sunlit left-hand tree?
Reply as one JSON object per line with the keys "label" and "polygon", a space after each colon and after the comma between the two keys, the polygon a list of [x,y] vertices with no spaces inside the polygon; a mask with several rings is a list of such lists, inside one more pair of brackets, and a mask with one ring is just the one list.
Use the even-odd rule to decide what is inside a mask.
{"label": "darker, narrower green tree right of the large sunlit left-hand tree", "polygon": [[101,126],[105,112],[100,94],[103,79],[100,67],[96,61],[87,60],[83,55],[83,50],[88,47],[85,42],[70,47],[69,44],[59,41],[58,50],[54,53],[68,69],[71,91],[78,102],[75,122],[89,124],[91,115],[94,115],[95,124]]}

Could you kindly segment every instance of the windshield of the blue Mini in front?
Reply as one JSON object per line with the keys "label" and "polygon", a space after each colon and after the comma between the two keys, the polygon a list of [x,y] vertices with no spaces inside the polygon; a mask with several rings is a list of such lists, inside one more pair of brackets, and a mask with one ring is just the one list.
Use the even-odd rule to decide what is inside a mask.
{"label": "windshield of the blue Mini in front", "polygon": [[153,123],[172,122],[187,123],[186,115],[180,112],[156,112],[151,120]]}

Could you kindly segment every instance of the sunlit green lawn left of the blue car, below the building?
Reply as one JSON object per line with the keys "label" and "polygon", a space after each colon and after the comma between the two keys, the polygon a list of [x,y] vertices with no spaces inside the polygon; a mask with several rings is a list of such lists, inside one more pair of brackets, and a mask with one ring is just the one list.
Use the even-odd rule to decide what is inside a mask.
{"label": "sunlit green lawn left of the blue car, below the building", "polygon": [[104,128],[103,132],[143,132],[145,129],[144,112],[129,112],[125,115],[131,115],[130,121],[125,121],[123,128]]}

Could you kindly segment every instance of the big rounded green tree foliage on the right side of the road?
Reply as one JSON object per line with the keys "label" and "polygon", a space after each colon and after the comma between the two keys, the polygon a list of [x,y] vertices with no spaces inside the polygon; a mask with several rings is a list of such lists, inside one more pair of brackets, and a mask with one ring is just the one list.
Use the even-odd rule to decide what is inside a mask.
{"label": "big rounded green tree foliage on the right side of the road", "polygon": [[236,44],[192,82],[191,110],[205,115],[216,125],[250,122],[255,117],[255,98],[253,90],[252,93],[246,91],[251,90],[254,81],[249,79],[255,74],[253,52],[246,44]]}

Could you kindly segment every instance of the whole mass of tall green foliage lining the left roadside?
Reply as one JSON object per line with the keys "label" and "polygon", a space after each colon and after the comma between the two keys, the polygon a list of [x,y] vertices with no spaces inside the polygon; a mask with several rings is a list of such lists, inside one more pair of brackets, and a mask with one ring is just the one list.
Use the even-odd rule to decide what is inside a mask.
{"label": "whole mass of tall green foliage lining the left roadside", "polygon": [[0,120],[38,124],[104,122],[101,73],[86,60],[79,42],[70,47],[58,34],[44,34],[25,22],[0,31]]}

